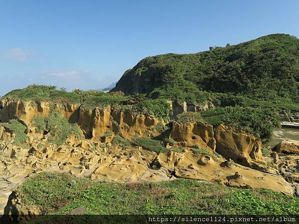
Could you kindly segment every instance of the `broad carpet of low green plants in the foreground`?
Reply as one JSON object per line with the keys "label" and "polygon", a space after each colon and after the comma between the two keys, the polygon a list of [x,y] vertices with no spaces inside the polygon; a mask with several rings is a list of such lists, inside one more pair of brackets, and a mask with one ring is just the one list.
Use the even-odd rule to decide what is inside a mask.
{"label": "broad carpet of low green plants in the foreground", "polygon": [[[69,185],[71,180],[75,184]],[[298,197],[187,179],[121,184],[67,173],[39,173],[26,179],[17,194],[25,205],[38,206],[41,214],[68,214],[77,207],[84,207],[86,214],[99,215],[299,214]]]}

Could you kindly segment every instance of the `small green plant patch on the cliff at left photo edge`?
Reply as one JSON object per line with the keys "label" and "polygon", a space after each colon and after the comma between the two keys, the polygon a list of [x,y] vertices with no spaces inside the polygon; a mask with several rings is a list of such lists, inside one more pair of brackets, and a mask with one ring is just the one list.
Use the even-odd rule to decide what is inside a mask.
{"label": "small green plant patch on the cliff at left photo edge", "polygon": [[7,123],[0,123],[0,125],[15,133],[13,145],[20,145],[27,140],[27,135],[25,134],[27,127],[18,120],[12,119]]}

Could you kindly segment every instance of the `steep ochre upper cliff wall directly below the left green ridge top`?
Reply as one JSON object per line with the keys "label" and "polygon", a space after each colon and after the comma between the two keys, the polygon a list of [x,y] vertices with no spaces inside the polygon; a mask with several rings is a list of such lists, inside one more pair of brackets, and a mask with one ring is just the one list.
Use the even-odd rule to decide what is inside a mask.
{"label": "steep ochre upper cliff wall directly below the left green ridge top", "polygon": [[[88,110],[77,105],[51,105],[48,102],[23,102],[23,101],[0,101],[1,122],[10,119],[18,119],[27,127],[32,124],[34,116],[46,117],[50,111],[61,112],[62,116],[70,122],[77,122],[88,139],[94,142],[103,141],[105,133],[112,131],[114,134],[131,139],[133,136],[146,136],[159,134],[154,126],[158,123],[165,124],[151,115],[137,114],[133,112],[121,112],[107,107]],[[102,139],[101,139],[102,138]],[[104,138],[105,140],[105,138]]]}

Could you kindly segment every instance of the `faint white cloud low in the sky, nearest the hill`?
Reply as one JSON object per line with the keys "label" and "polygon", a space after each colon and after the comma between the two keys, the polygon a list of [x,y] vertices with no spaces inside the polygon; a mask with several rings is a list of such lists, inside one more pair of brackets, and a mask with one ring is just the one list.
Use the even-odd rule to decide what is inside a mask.
{"label": "faint white cloud low in the sky, nearest the hill", "polygon": [[68,82],[84,81],[90,75],[90,70],[57,71],[43,74],[43,79],[58,79]]}

